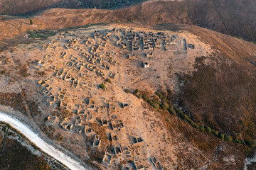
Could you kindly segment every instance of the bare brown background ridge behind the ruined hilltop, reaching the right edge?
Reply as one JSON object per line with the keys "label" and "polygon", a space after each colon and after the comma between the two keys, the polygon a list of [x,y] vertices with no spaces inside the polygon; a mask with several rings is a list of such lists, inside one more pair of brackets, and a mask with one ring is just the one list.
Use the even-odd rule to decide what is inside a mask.
{"label": "bare brown background ridge behind the ruined hilltop, reaching the right edge", "polygon": [[[14,2],[15,1],[2,1],[2,6],[11,6],[11,9],[8,9],[9,11],[18,11],[22,9],[26,9],[26,11],[34,11],[36,8],[38,8],[38,11],[41,11],[39,10],[41,8],[45,9],[53,7],[53,1],[43,1],[42,3],[36,3],[36,6],[31,5],[33,4],[33,1],[27,1],[27,3],[24,2],[22,4],[16,3],[16,5],[7,4]],[[59,3],[59,1],[54,2],[56,4]],[[129,4],[122,4],[119,1],[100,1],[100,3],[97,3],[97,1],[86,1],[86,3],[82,1],[81,3],[81,1],[72,0],[65,2],[65,6],[55,7],[81,8],[79,4],[87,4],[85,8],[115,8],[115,6],[128,6],[137,2],[139,1],[129,1]],[[40,7],[37,7],[37,5]],[[256,2],[254,0],[149,1],[126,8],[119,8],[114,11],[107,11],[107,13],[100,10],[97,10],[97,12],[88,13],[88,10],[84,9],[72,11],[73,13],[80,13],[81,15],[73,18],[72,23],[66,23],[66,20],[69,18],[67,18],[65,14],[70,13],[70,10],[63,10],[60,18],[58,17],[60,12],[59,10],[56,10],[56,12],[50,11],[48,14],[50,14],[50,18],[58,17],[60,21],[65,21],[66,26],[82,26],[85,21],[88,23],[88,17],[93,18],[93,20],[91,19],[89,21],[90,23],[110,21],[138,21],[149,24],[186,23],[256,42],[255,6]],[[5,8],[1,9],[7,10]],[[68,17],[70,17],[70,15],[68,15]],[[50,18],[46,18],[47,23],[49,22],[48,20],[50,20]],[[52,25],[50,27],[53,27],[54,23],[50,22],[48,24]]]}

